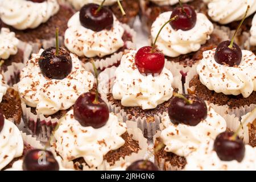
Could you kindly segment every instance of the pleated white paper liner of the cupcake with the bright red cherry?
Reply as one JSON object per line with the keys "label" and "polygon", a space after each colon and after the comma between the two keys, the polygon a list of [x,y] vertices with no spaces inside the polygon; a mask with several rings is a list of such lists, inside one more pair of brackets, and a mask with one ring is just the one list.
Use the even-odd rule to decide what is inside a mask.
{"label": "pleated white paper liner of the cupcake with the bright red cherry", "polygon": [[[105,69],[103,72],[100,73],[98,76],[98,91],[101,93],[101,98],[106,102],[106,104],[109,107],[109,110],[112,111],[115,114],[121,115],[122,119],[124,122],[126,121],[134,121],[137,123],[137,127],[142,130],[144,133],[144,136],[148,139],[152,138],[156,131],[159,130],[159,124],[161,123],[161,118],[164,113],[156,113],[154,115],[154,121],[148,121],[146,117],[135,117],[134,115],[126,114],[125,110],[121,109],[121,107],[112,104],[111,102],[108,101],[108,98],[106,95],[108,93],[112,92],[112,87],[114,84],[114,72],[117,67],[111,67],[108,69]],[[177,88],[179,89],[179,93],[182,93],[182,83],[181,81],[176,81],[179,82],[177,85]]]}

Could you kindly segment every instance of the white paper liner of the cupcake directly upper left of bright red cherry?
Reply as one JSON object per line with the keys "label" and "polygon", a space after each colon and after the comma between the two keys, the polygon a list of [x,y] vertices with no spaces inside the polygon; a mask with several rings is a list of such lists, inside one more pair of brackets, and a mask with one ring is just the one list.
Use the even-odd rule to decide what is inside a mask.
{"label": "white paper liner of the cupcake directly upper left of bright red cherry", "polygon": [[[136,32],[133,29],[131,29],[127,24],[122,24],[122,27],[128,34],[131,35],[132,42],[125,42],[126,49],[124,51],[113,53],[112,56],[107,57],[105,59],[94,60],[95,67],[97,69],[103,71],[105,68],[112,67],[113,65],[119,65],[123,52],[125,52],[127,49],[136,49]],[[92,63],[82,63],[82,66],[85,68],[86,71],[94,73]]]}

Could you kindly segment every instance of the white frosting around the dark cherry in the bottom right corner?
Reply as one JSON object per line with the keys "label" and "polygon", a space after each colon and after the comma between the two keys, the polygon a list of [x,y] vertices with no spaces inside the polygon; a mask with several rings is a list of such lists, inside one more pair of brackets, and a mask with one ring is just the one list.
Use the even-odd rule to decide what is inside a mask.
{"label": "white frosting around the dark cherry in the bottom right corner", "polygon": [[187,171],[248,171],[256,170],[256,148],[245,145],[245,156],[242,162],[237,160],[222,161],[213,150],[214,140],[205,142],[196,152],[192,152],[186,158]]}

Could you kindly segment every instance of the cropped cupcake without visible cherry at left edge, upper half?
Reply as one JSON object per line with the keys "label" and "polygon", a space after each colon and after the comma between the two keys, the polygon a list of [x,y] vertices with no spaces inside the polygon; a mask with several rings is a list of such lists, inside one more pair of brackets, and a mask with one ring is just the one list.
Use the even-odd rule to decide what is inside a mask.
{"label": "cropped cupcake without visible cherry at left edge, upper half", "polygon": [[7,84],[12,86],[19,81],[19,72],[31,54],[31,46],[15,38],[9,28],[0,28],[0,71]]}

